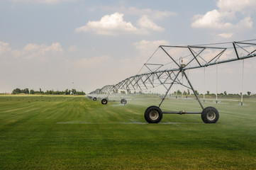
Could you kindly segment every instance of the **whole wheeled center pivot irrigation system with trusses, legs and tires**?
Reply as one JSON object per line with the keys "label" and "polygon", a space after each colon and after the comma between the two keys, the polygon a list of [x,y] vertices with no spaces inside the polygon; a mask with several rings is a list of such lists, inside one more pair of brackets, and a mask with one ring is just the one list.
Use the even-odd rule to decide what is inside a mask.
{"label": "whole wheeled center pivot irrigation system with trusses, legs and tires", "polygon": [[[148,61],[140,69],[140,72],[133,77],[128,77],[118,84],[107,85],[101,89],[96,89],[90,93],[89,98],[96,101],[99,94],[106,94],[101,103],[108,103],[109,94],[113,91],[125,89],[127,91],[136,91],[143,89],[153,89],[157,86],[163,86],[166,90],[158,106],[150,106],[145,110],[144,116],[148,123],[159,123],[162,120],[162,114],[200,114],[204,123],[216,123],[219,113],[216,108],[202,105],[196,94],[194,87],[189,80],[186,72],[189,69],[199,69],[218,64],[245,60],[256,57],[256,40],[244,40],[237,42],[223,42],[206,45],[160,45],[152,54]],[[244,63],[244,62],[243,62]],[[185,83],[183,78],[187,80]],[[162,102],[167,98],[167,94],[174,84],[179,84],[193,91],[196,100],[199,102],[201,112],[187,111],[162,111],[160,109]],[[121,103],[126,104],[125,98],[121,98]]]}

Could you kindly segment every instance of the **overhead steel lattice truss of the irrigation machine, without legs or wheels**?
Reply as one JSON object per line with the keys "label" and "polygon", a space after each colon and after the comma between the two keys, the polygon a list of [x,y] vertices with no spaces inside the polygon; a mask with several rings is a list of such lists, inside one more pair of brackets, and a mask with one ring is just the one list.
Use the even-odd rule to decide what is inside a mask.
{"label": "overhead steel lattice truss of the irrigation machine, without legs or wheels", "polygon": [[[219,47],[218,47],[219,45]],[[226,45],[226,47],[222,47]],[[177,49],[181,52],[186,51],[187,55],[180,57],[174,56],[172,50]],[[180,84],[191,89],[191,86],[186,86],[179,79],[179,75],[184,75],[187,69],[197,69],[201,67],[208,67],[215,64],[222,64],[226,62],[234,62],[237,60],[244,60],[250,57],[256,57],[256,43],[255,40],[247,40],[240,42],[226,42],[218,44],[204,45],[180,45],[169,46],[160,45],[157,50],[162,50],[162,53],[167,57],[164,63],[151,62],[150,60],[143,65],[146,72],[136,74],[128,77],[117,84],[107,85],[101,89],[91,91],[90,94],[111,94],[118,89],[126,90],[143,90],[152,89],[156,86],[164,86],[169,91],[172,84]],[[179,52],[179,53],[181,53]],[[231,58],[228,58],[232,56]],[[185,62],[183,62],[185,61]],[[185,64],[186,63],[186,64]],[[182,73],[182,74],[179,74]]]}

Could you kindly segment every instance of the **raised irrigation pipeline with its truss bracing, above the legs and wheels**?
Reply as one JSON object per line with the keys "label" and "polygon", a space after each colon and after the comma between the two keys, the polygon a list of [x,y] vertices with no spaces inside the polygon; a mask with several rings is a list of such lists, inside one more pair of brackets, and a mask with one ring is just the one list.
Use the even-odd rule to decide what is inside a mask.
{"label": "raised irrigation pipeline with its truss bracing, above the legs and wheels", "polygon": [[[235,62],[238,60],[245,60],[245,59],[248,59],[251,57],[256,57],[256,53],[255,53],[256,52],[256,43],[250,42],[250,41],[255,41],[255,40],[243,40],[243,41],[236,41],[236,42],[222,42],[222,43],[205,44],[207,46],[203,46],[203,45],[187,45],[187,46],[184,46],[184,45],[183,46],[160,45],[157,48],[157,50],[162,49],[166,53],[167,57],[169,57],[171,59],[172,63],[174,63],[174,65],[176,64],[176,66],[174,68],[160,70],[160,67],[162,67],[166,64],[158,64],[158,65],[160,65],[160,67],[157,68],[155,71],[152,71],[152,69],[148,68],[150,70],[150,72],[136,74],[135,76],[128,77],[127,79],[124,79],[123,81],[118,82],[118,84],[107,85],[101,89],[96,89],[96,91],[92,91],[90,94],[102,93],[102,92],[111,93],[111,91],[113,91],[113,89],[115,89],[115,90],[117,90],[117,89],[132,89],[132,90],[151,89],[151,88],[155,88],[155,86],[158,86],[158,85],[165,86],[165,84],[170,84],[170,82],[172,82],[172,83],[174,82],[175,84],[181,84],[182,86],[184,86],[184,84],[182,84],[182,82],[180,82],[179,79],[174,80],[174,77],[177,78],[178,72],[184,72],[185,70],[189,70],[189,69],[198,69],[198,68],[202,68],[202,67],[213,66],[216,64]],[[210,47],[209,46],[209,45],[226,45],[226,44],[230,44],[231,47]],[[188,64],[180,64],[180,63],[178,64],[177,61],[179,59],[174,60],[174,57],[169,55],[169,53],[164,49],[165,47],[187,49],[190,51],[190,54],[186,55],[184,57],[192,56],[192,58],[189,59]],[[255,47],[255,50],[252,50],[252,52],[249,52],[248,50],[245,50],[245,47]],[[228,60],[220,60],[223,53],[226,52],[227,49],[232,49],[232,48],[235,52],[235,57],[233,57],[232,59],[228,59]],[[194,49],[198,49],[198,50],[195,51]],[[221,52],[218,52],[218,55],[212,56],[211,60],[209,62],[206,62],[206,60],[204,60],[204,58],[201,57],[201,55],[202,55],[201,53],[203,53],[203,51],[206,49],[220,50]],[[247,55],[239,56],[238,49],[243,50],[243,52],[246,52]],[[150,56],[149,60],[155,55],[157,50],[155,50],[155,52],[153,52],[153,54]],[[201,60],[203,60],[203,62],[199,61],[199,58]],[[148,61],[146,62],[146,64],[148,64]],[[196,65],[190,67],[191,62],[195,62]],[[171,62],[169,62],[169,63],[171,63]],[[157,65],[157,64],[155,64],[155,65]],[[147,67],[145,64],[143,65],[143,67],[144,66]],[[140,69],[140,71],[143,69],[143,67]],[[140,73],[140,72],[138,72],[138,73]],[[188,88],[188,86],[186,86],[186,87]],[[166,86],[165,86],[165,89],[167,89]]]}

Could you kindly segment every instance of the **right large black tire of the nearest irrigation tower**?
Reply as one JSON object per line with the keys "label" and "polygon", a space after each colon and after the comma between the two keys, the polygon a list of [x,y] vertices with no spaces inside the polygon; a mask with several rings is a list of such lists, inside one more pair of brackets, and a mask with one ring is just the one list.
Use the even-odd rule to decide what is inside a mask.
{"label": "right large black tire of the nearest irrigation tower", "polygon": [[204,123],[216,123],[219,118],[219,114],[216,108],[207,107],[201,113],[201,118]]}

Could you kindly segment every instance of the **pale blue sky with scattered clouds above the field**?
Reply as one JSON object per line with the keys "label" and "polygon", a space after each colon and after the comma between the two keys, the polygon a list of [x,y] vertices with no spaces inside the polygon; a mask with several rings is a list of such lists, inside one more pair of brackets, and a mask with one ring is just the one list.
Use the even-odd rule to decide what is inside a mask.
{"label": "pale blue sky with scattered clouds above the field", "polygon": [[[3,0],[0,92],[75,88],[88,93],[137,74],[159,45],[256,39],[255,9],[253,0]],[[255,64],[245,61],[244,91],[256,93]],[[230,72],[220,69],[219,91],[240,92],[241,65],[223,66]],[[209,77],[214,73],[209,69]],[[201,78],[192,75],[202,92]],[[206,90],[215,91],[211,84]]]}

